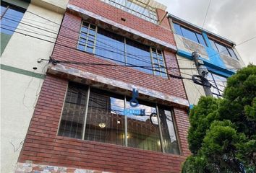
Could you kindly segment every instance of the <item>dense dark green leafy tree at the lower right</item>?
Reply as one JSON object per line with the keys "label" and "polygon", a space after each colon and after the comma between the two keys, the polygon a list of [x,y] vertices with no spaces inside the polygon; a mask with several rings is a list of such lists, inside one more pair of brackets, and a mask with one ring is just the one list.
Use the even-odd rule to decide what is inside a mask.
{"label": "dense dark green leafy tree at the lower right", "polygon": [[189,123],[182,172],[255,172],[256,66],[229,77],[223,99],[201,97]]}

